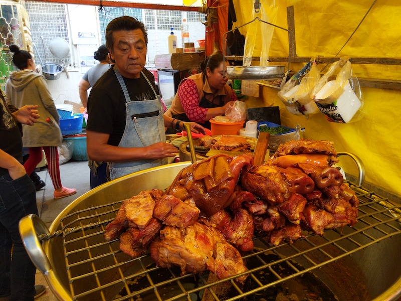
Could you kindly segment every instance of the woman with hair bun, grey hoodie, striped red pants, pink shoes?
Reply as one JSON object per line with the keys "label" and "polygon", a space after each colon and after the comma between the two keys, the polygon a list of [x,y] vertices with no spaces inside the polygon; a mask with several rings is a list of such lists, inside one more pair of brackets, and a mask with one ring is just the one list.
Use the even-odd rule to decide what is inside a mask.
{"label": "woman with hair bun, grey hoodie, striped red pants, pink shoes", "polygon": [[6,101],[16,107],[27,104],[38,105],[40,118],[35,128],[23,125],[23,144],[29,149],[29,159],[24,163],[27,174],[35,170],[42,161],[45,151],[48,171],[54,186],[54,198],[60,199],[76,193],[73,188],[62,186],[60,179],[59,153],[62,135],[59,127],[59,114],[45,77],[36,72],[33,56],[17,45],[10,45],[14,53],[13,64],[20,69],[11,73],[6,83]]}

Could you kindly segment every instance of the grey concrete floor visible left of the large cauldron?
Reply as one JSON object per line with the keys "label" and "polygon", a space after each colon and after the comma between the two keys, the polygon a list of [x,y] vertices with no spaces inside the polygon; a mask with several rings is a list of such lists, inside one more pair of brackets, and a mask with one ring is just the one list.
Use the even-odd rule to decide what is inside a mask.
{"label": "grey concrete floor visible left of the large cauldron", "polygon": [[[64,208],[90,190],[89,173],[88,161],[70,160],[63,165],[60,165],[60,177],[63,186],[75,188],[77,193],[56,200],[53,198],[54,187],[47,168],[41,168],[41,171],[37,171],[37,174],[41,179],[46,182],[46,186],[36,193],[39,217],[48,227]],[[46,279],[39,271],[36,273],[36,284],[43,284],[46,287],[46,292],[38,297],[36,299],[37,301],[57,301],[57,298],[51,292]]]}

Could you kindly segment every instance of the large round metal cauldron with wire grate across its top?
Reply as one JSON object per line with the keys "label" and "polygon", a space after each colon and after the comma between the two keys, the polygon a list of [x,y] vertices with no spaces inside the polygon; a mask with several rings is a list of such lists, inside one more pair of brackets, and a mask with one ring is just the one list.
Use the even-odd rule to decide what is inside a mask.
{"label": "large round metal cauldron with wire grate across its top", "polygon": [[[112,300],[121,289],[127,296],[119,300],[137,299],[136,293],[143,300],[196,300],[195,295],[204,291],[202,300],[260,300],[268,295],[272,285],[286,280],[284,286],[290,286],[294,279],[302,282],[312,273],[341,301],[396,300],[401,295],[401,205],[391,204],[353,184],[351,188],[361,201],[354,228],[328,230],[324,237],[308,235],[292,245],[276,247],[268,245],[263,238],[256,239],[254,252],[244,254],[244,260],[250,263],[248,280],[253,286],[246,290],[230,278],[225,282],[231,287],[229,297],[216,292],[225,284],[213,280],[211,275],[209,279],[208,274],[179,276],[174,268],[159,269],[151,265],[148,255],[133,259],[121,253],[118,240],[105,242],[105,221],[115,217],[122,200],[141,190],[167,188],[175,175],[189,164],[170,164],[138,172],[79,197],[52,223],[50,231],[64,229],[64,235],[46,240],[44,253],[34,232],[36,229],[38,235],[46,234],[47,227],[37,217],[22,220],[20,230],[30,256],[60,300],[71,300],[71,295],[74,300]],[[85,226],[91,223],[101,226]],[[66,230],[70,228],[76,231]],[[269,261],[270,255],[277,258]],[[283,274],[284,266],[290,270],[287,274]],[[160,275],[164,272],[168,277],[162,279]],[[271,283],[266,283],[261,276],[268,273],[275,277]],[[131,281],[131,278],[135,279]],[[128,285],[130,281],[135,283],[133,288]],[[143,282],[146,284],[139,286]],[[168,295],[168,291],[174,295]]]}

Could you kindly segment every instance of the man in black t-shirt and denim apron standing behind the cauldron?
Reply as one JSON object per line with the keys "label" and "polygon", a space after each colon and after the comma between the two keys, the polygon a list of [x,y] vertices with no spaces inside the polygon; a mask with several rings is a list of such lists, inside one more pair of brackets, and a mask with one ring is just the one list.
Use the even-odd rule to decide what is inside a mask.
{"label": "man in black t-shirt and denim apron standing behind the cauldron", "polygon": [[[124,16],[106,28],[115,65],[96,82],[88,98],[87,152],[108,163],[110,180],[167,163],[177,148],[166,143],[164,127],[183,122],[163,115],[153,75],[144,68],[147,33],[142,22]],[[191,122],[191,131],[205,128]]]}

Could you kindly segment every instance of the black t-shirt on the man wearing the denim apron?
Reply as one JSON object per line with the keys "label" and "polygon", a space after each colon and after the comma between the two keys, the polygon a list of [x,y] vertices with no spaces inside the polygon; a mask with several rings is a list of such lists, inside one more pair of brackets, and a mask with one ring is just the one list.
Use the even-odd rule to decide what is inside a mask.
{"label": "black t-shirt on the man wearing the denim apron", "polygon": [[[153,85],[154,77],[151,72],[143,69],[142,72]],[[141,74],[138,79],[123,77],[131,101],[151,100],[156,95]],[[87,130],[110,134],[108,144],[117,146],[124,133],[126,119],[125,97],[114,73],[110,68],[93,86],[88,98]]]}

